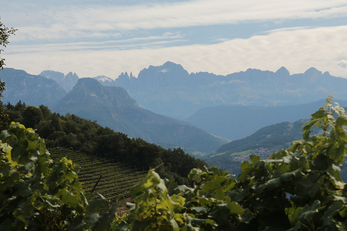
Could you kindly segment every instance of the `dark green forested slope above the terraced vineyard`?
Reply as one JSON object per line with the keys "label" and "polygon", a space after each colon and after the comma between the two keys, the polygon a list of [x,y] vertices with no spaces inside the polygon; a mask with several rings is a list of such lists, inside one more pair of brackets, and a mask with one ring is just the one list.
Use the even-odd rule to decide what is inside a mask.
{"label": "dark green forested slope above the terraced vineyard", "polygon": [[164,149],[143,139],[130,139],[126,134],[114,132],[90,120],[73,114],[62,116],[49,108],[26,106],[24,103],[5,106],[11,121],[37,129],[48,148],[56,146],[73,148],[86,154],[124,161],[144,169],[164,163],[159,173],[163,177],[188,184],[187,175],[192,168],[202,168],[206,163],[186,154],[182,149]]}

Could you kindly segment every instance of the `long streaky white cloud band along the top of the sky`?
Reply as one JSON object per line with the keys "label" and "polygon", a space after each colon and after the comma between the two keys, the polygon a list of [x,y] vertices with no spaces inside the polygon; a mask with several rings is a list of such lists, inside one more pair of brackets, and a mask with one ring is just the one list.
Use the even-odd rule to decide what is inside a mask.
{"label": "long streaky white cloud band along the top of the sky", "polygon": [[175,28],[252,21],[332,18],[347,15],[345,0],[194,0],[133,6],[70,6],[6,11],[20,29],[14,41],[83,37],[113,38],[132,29]]}

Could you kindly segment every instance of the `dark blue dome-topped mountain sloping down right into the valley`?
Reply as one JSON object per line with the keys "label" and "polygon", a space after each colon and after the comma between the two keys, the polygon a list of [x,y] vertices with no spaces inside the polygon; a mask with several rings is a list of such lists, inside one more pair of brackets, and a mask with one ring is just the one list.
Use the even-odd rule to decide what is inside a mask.
{"label": "dark blue dome-topped mountain sloping down right into the valley", "polygon": [[114,131],[166,148],[180,146],[209,153],[226,143],[200,128],[140,108],[124,88],[102,86],[93,78],[79,79],[54,110],[96,120]]}

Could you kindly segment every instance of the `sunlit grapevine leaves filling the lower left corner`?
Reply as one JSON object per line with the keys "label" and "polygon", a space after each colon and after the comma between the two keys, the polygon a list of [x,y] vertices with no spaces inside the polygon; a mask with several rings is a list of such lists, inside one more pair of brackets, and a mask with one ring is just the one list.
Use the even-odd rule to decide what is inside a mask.
{"label": "sunlit grapevine leaves filling the lower left corner", "polygon": [[117,207],[101,195],[90,199],[79,166],[53,161],[44,140],[22,124],[12,122],[0,139],[0,230],[109,229]]}

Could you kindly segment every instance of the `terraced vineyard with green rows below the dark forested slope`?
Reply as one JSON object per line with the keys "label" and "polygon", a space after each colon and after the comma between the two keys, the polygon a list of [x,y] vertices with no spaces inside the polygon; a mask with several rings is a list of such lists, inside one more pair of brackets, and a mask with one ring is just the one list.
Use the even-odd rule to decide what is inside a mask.
{"label": "terraced vineyard with green rows below the dark forested slope", "polygon": [[66,148],[53,148],[49,150],[52,159],[66,157],[73,163],[81,166],[78,179],[86,192],[91,192],[96,181],[101,175],[99,184],[96,186],[93,194],[100,193],[111,201],[116,201],[117,197],[128,198],[130,196],[129,188],[142,180],[146,171],[135,166],[129,168],[124,163],[116,163],[101,157],[87,155]]}

